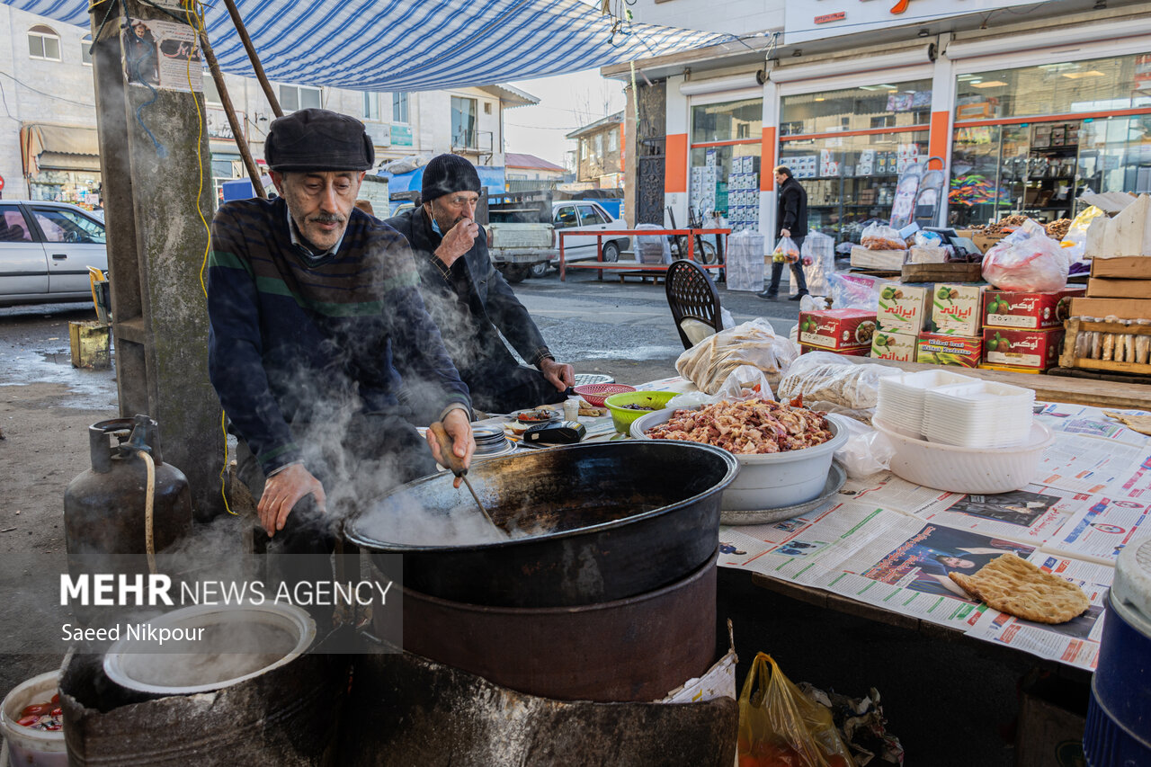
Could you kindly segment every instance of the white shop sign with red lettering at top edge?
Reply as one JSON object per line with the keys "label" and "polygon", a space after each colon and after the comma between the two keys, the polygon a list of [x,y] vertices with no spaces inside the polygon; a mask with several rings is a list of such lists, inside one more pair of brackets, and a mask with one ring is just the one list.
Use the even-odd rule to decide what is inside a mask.
{"label": "white shop sign with red lettering at top edge", "polygon": [[1034,0],[785,0],[784,44],[1029,5]]}

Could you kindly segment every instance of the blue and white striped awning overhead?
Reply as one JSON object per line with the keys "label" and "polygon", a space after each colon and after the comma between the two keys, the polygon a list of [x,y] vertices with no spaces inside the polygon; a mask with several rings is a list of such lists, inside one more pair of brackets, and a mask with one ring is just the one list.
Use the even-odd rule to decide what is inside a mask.
{"label": "blue and white striped awning overhead", "polygon": [[[89,0],[0,0],[89,25]],[[650,59],[731,36],[632,24],[579,0],[237,0],[268,77],[365,91],[489,85]],[[205,3],[220,67],[252,76],[223,2]]]}

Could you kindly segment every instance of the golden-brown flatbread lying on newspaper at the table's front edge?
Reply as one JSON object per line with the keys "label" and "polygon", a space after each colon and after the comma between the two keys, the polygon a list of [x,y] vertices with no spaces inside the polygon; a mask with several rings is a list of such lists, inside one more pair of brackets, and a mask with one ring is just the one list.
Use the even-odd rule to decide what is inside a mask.
{"label": "golden-brown flatbread lying on newspaper at the table's front edge", "polygon": [[1044,572],[1027,560],[1004,554],[973,575],[947,574],[988,607],[1037,623],[1066,623],[1090,606],[1083,590]]}

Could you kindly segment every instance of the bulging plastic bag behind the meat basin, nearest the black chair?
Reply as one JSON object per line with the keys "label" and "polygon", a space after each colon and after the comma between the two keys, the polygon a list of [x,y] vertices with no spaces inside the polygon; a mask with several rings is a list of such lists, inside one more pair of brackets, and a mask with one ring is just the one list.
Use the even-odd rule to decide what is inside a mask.
{"label": "bulging plastic bag behind the meat basin, nearest the black chair", "polygon": [[771,322],[756,318],[721,331],[687,349],[676,360],[676,370],[702,392],[715,394],[740,365],[754,365],[770,379],[795,359],[798,350],[776,335]]}

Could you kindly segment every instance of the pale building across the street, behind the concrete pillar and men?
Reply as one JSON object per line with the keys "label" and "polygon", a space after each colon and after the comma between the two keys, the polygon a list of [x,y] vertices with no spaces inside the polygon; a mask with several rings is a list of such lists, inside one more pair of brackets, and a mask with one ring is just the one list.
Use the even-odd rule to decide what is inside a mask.
{"label": "pale building across the street, behind the concrete pillar and men", "polygon": [[[0,6],[0,195],[99,204],[100,159],[92,64],[86,28]],[[224,75],[257,161],[274,119],[254,78]],[[323,107],[364,121],[376,161],[455,152],[477,165],[504,162],[503,111],[539,99],[506,85],[422,92],[364,92],[273,83],[281,108]],[[211,176],[246,177],[223,105],[204,71]],[[146,116],[145,116],[146,120]]]}

